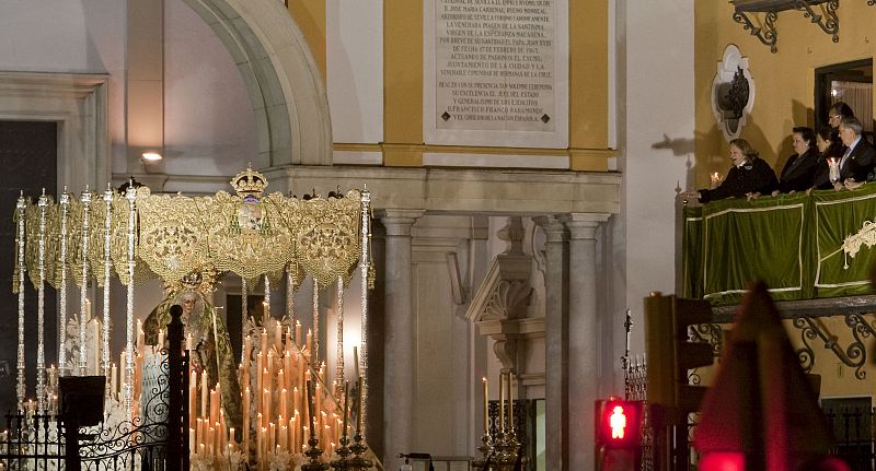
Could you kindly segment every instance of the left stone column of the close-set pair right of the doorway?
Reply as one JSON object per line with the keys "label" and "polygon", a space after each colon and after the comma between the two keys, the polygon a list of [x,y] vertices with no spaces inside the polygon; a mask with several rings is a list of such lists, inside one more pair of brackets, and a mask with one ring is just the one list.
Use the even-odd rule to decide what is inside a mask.
{"label": "left stone column of the close-set pair right of the doorway", "polygon": [[[569,467],[568,414],[568,234],[555,216],[534,217],[548,236],[544,272],[544,412],[546,469]],[[593,407],[592,402],[589,404]],[[581,424],[578,417],[574,423]],[[586,424],[584,426],[591,426]],[[575,444],[576,447],[592,444]],[[578,468],[590,469],[591,467]]]}

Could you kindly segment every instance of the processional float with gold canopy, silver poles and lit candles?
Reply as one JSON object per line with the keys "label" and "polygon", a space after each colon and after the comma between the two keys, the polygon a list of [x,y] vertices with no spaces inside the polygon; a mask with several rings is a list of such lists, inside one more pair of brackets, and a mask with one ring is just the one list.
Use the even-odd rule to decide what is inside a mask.
{"label": "processional float with gold canopy, silver poles and lit candles", "polygon": [[[39,196],[36,202],[23,193],[15,209],[15,269],[18,293],[18,405],[19,410],[46,413],[57,408],[59,375],[103,375],[107,400],[118,401],[124,413],[136,416],[143,393],[143,375],[159,368],[164,331],[158,350],[147,344],[142,327],[135,328],[135,286],[160,279],[171,293],[212,289],[224,273],[238,274],[243,284],[242,354],[235,378],[243,403],[242,431],[230,427],[219,378],[189,369],[189,449],[196,461],[210,468],[216,460],[239,461],[260,469],[368,469],[361,436],[367,420],[368,291],[373,286],[370,263],[370,193],[349,190],[296,197],[266,195],[264,175],[247,167],[224,191],[208,197],[152,195],[134,181],[103,193],[85,190],[79,198],[65,191],[55,202]],[[314,192],[315,193],[315,192]],[[344,378],[344,290],[356,271],[360,274],[361,340],[355,362],[358,387],[350,396]],[[28,276],[30,275],[30,276]],[[126,343],[118,370],[111,362],[111,281],[126,287]],[[312,331],[302,339],[295,314],[295,294],[308,280],[313,284]],[[25,398],[24,292],[30,278],[37,292],[36,400]],[[286,282],[287,306],[272,317],[270,285]],[[246,286],[265,283],[261,319],[246,313]],[[79,287],[79,315],[68,317],[67,290]],[[46,285],[59,294],[58,367],[46,367]],[[103,310],[92,317],[89,286],[103,295]],[[336,290],[337,321],[335,374],[326,382],[326,367],[319,358],[320,290]],[[169,298],[170,299],[170,298]],[[168,301],[168,299],[165,299]],[[170,299],[173,302],[173,299]],[[212,316],[215,348],[220,345],[216,311]],[[30,311],[28,311],[30,314]],[[194,351],[191,333],[186,350]],[[217,355],[218,357],[218,355]],[[145,373],[146,372],[146,373]],[[149,379],[149,378],[146,378]],[[145,398],[143,398],[145,399]],[[350,405],[355,400],[355,405]],[[354,416],[356,424],[348,423]],[[350,431],[355,425],[354,435]],[[353,443],[353,444],[351,444]],[[350,445],[351,444],[351,445]],[[320,448],[320,445],[324,449]],[[309,458],[306,459],[304,456]],[[304,462],[304,461],[309,462]],[[338,466],[339,463],[339,466]],[[323,468],[325,467],[325,468]]]}

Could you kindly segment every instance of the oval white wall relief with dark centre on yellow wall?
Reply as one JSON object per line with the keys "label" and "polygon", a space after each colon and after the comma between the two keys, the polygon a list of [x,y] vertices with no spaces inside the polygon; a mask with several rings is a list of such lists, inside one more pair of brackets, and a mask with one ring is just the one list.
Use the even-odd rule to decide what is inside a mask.
{"label": "oval white wall relief with dark centre on yellow wall", "polygon": [[727,45],[712,82],[712,113],[728,142],[737,139],[754,106],[754,80],[748,58],[735,45]]}

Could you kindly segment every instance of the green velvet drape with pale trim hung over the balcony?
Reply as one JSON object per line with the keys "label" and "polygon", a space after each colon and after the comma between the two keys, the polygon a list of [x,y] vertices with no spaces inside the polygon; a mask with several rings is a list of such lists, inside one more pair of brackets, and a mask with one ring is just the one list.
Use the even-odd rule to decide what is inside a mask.
{"label": "green velvet drape with pale trim hung over the balcony", "polygon": [[876,185],[727,199],[683,214],[683,295],[736,304],[750,280],[776,301],[873,293]]}

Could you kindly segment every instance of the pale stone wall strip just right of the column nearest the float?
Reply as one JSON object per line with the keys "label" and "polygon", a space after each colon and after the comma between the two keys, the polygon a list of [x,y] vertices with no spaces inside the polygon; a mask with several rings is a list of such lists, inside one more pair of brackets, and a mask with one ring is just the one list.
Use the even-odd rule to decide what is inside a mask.
{"label": "pale stone wall strip just right of the column nearest the float", "polygon": [[[397,452],[464,456],[476,440],[470,405],[475,402],[475,385],[469,369],[475,326],[453,301],[447,263],[448,254],[457,254],[459,263],[473,256],[469,243],[472,223],[465,216],[425,216],[413,229],[415,450]],[[461,264],[461,278],[469,276],[464,267]]]}

